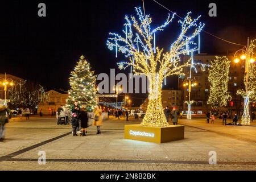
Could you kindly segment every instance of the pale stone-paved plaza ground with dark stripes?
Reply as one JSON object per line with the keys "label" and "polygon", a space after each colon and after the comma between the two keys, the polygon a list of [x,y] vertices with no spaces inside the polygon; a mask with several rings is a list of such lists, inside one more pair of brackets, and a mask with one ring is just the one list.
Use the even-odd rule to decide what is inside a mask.
{"label": "pale stone-paved plaza ground with dark stripes", "polygon": [[[139,120],[105,119],[101,135],[90,126],[85,137],[73,137],[71,125],[56,118],[11,119],[0,143],[1,170],[255,170],[256,123],[223,126],[204,118],[179,119],[185,139],[156,144],[123,138],[124,125]],[[46,164],[39,164],[39,152]],[[209,164],[209,152],[217,164]]]}

